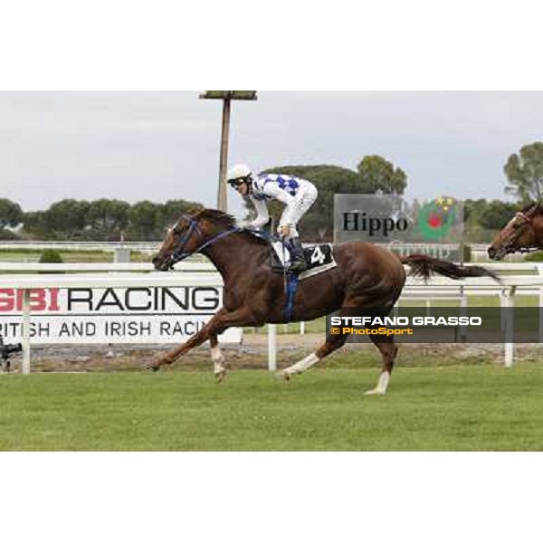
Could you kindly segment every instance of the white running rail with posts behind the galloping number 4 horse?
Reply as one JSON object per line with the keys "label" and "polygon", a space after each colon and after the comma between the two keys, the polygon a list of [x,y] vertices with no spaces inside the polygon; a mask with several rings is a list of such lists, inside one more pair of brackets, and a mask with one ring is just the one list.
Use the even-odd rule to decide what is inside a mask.
{"label": "white running rail with posts behind the galloping number 4 horse", "polygon": [[[543,307],[543,265],[532,262],[517,264],[485,264],[492,271],[524,271],[524,274],[500,274],[501,284],[488,277],[452,281],[441,276],[433,277],[424,284],[409,279],[405,285],[403,300],[461,300],[467,304],[468,295],[499,296],[500,305],[511,307],[515,296],[538,295],[539,307]],[[222,286],[220,274],[210,262],[181,262],[175,272],[152,271],[150,263],[63,263],[40,264],[33,262],[0,262],[0,289],[24,291],[23,317],[23,373],[30,372],[30,305],[29,292],[39,288],[113,288],[113,287],[168,287],[168,286]],[[26,273],[15,273],[25,271]],[[65,273],[37,274],[36,271],[64,271]],[[427,302],[427,303],[428,303]],[[268,367],[276,367],[275,325],[270,325],[268,342]],[[539,323],[540,340],[543,340],[543,319]],[[505,366],[513,364],[514,345],[504,344]]]}

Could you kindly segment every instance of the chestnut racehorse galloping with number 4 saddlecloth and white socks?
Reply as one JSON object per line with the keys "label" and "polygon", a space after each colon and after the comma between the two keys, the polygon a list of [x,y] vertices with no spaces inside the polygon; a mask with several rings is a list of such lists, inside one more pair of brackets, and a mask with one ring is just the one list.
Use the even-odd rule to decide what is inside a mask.
{"label": "chestnut racehorse galloping with number 4 saddlecloth and white socks", "polygon": [[[226,373],[224,356],[217,335],[229,327],[259,327],[264,323],[285,322],[283,276],[271,271],[271,245],[250,231],[236,226],[232,216],[206,209],[182,216],[167,232],[159,252],[153,258],[155,269],[167,271],[187,256],[205,254],[224,280],[224,307],[186,343],[155,357],[148,368],[157,370],[171,364],[190,349],[204,343],[211,345],[214,374],[221,381]],[[353,308],[376,308],[388,314],[405,284],[402,264],[415,276],[427,279],[433,272],[452,279],[490,275],[480,266],[459,267],[422,254],[399,257],[370,243],[339,243],[334,246],[337,266],[300,281],[294,298],[292,321],[312,320],[348,313]],[[397,347],[393,337],[370,336],[380,351],[383,364],[376,387],[369,391],[384,394],[394,366]],[[308,357],[281,373],[285,378],[301,373],[341,347],[343,335],[329,335]]]}

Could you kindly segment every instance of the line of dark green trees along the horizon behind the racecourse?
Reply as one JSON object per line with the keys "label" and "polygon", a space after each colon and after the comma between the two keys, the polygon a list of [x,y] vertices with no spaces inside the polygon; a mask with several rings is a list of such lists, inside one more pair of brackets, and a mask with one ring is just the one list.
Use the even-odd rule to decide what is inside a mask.
{"label": "line of dark green trees along the horizon behind the racecourse", "polygon": [[[543,142],[535,142],[510,155],[505,166],[505,192],[515,202],[500,200],[464,200],[464,238],[468,242],[488,242],[520,206],[543,198]],[[309,179],[319,189],[319,198],[304,216],[305,240],[331,241],[334,228],[334,195],[403,195],[407,175],[384,157],[363,157],[357,169],[333,165],[271,167],[262,173],[281,173]],[[502,181],[500,181],[501,183]],[[436,190],[438,190],[436,188]],[[436,194],[437,195],[437,194]],[[416,204],[416,203],[414,203]],[[247,214],[252,205],[245,201]],[[168,200],[165,204],[149,201],[130,205],[121,200],[92,202],[66,199],[45,211],[24,212],[18,204],[0,199],[0,238],[21,237],[43,240],[144,241],[164,237],[164,229],[179,215],[203,205],[186,200]],[[271,202],[275,223],[282,205]],[[7,229],[23,224],[17,233]]]}

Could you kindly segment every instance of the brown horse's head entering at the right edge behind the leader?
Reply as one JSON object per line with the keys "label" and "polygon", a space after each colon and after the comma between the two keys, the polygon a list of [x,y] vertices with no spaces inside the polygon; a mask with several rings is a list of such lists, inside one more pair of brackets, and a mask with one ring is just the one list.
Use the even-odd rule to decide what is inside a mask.
{"label": "brown horse's head entering at the right edge behind the leader", "polygon": [[543,208],[530,204],[506,224],[488,248],[492,260],[501,260],[511,252],[543,249]]}

